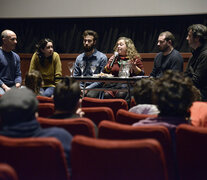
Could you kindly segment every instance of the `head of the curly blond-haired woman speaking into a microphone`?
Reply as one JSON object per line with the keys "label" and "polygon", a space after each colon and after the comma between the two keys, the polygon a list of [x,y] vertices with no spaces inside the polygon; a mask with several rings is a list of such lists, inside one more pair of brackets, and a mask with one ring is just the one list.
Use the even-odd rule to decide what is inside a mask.
{"label": "head of the curly blond-haired woman speaking into a microphone", "polygon": [[127,37],[120,37],[117,40],[114,51],[118,52],[121,56],[128,56],[129,59],[134,59],[135,57],[140,58],[133,41]]}

